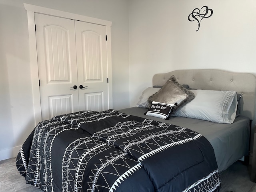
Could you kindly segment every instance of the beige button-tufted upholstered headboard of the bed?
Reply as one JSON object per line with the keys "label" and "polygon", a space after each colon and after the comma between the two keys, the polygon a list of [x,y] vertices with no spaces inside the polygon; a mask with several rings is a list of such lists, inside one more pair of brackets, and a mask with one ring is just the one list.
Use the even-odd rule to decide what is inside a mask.
{"label": "beige button-tufted upholstered headboard of the bed", "polygon": [[235,73],[216,69],[176,70],[153,76],[154,85],[164,83],[174,75],[180,84],[188,84],[190,88],[204,90],[235,90],[242,94],[240,100],[241,115],[256,121],[256,77],[249,73]]}

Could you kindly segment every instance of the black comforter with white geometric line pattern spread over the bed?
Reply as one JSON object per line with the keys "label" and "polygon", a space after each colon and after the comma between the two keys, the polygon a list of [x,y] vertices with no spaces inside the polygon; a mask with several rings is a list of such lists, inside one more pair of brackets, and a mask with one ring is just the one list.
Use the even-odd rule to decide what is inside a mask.
{"label": "black comforter with white geometric line pattern spread over the bed", "polygon": [[218,192],[202,135],[118,112],[81,111],[40,122],[17,156],[26,183],[46,192]]}

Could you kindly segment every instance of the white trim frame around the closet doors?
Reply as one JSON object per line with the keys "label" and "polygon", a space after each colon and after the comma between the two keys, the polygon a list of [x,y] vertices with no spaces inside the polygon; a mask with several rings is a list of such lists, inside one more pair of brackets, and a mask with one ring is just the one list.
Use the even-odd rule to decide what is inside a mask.
{"label": "white trim frame around the closet doors", "polygon": [[40,7],[32,4],[24,3],[24,8],[27,11],[28,17],[28,38],[29,38],[29,52],[30,52],[30,72],[32,82],[32,94],[34,105],[34,120],[35,126],[38,122],[42,121],[41,114],[41,101],[40,101],[40,88],[39,88],[39,74],[38,74],[38,60],[37,60],[37,48],[36,48],[36,29],[35,29],[35,13],[47,14],[50,16],[58,16],[67,19],[80,20],[83,22],[89,22],[93,24],[99,24],[106,26],[107,40],[107,68],[108,68],[108,108],[112,108],[112,58],[111,58],[111,25],[112,22],[107,20],[101,20],[88,16],[78,15],[74,13],[64,12],[60,10],[54,10],[51,8]]}

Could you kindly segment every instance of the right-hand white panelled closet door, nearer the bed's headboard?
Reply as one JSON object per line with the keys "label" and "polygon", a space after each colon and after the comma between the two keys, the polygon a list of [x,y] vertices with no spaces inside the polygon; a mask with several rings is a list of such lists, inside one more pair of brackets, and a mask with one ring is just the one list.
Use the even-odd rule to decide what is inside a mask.
{"label": "right-hand white panelled closet door, nearer the bed's headboard", "polygon": [[106,26],[75,21],[80,110],[109,107]]}

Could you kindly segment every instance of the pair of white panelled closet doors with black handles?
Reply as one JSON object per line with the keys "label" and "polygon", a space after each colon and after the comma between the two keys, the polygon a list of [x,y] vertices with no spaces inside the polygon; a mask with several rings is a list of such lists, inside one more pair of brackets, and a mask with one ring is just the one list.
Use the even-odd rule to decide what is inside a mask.
{"label": "pair of white panelled closet doors with black handles", "polygon": [[42,120],[108,109],[106,26],[35,14]]}

